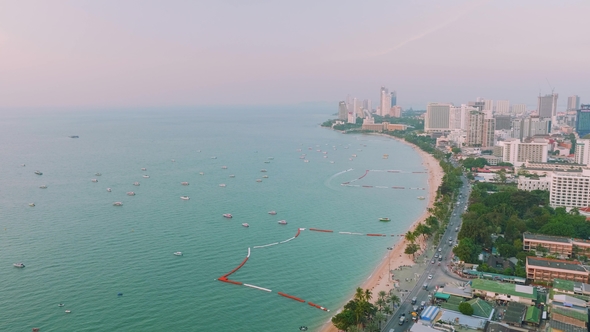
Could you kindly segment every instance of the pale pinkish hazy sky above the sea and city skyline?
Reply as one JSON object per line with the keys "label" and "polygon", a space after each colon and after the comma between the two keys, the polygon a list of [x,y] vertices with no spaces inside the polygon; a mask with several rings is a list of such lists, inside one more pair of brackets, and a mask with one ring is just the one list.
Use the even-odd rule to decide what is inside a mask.
{"label": "pale pinkish hazy sky above the sea and city skyline", "polygon": [[[590,2],[0,0],[0,108],[590,102]],[[336,109],[336,105],[334,107]]]}

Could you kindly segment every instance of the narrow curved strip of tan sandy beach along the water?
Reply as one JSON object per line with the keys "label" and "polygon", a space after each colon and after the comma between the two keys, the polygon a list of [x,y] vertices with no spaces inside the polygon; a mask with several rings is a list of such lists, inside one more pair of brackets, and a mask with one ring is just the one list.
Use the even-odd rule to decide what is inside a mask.
{"label": "narrow curved strip of tan sandy beach along the water", "polygon": [[[428,192],[427,199],[428,199],[428,208],[432,207],[432,205],[434,204],[434,200],[436,198],[436,192],[438,190],[438,187],[441,184],[442,177],[444,175],[443,170],[439,165],[439,161],[436,160],[432,155],[422,151],[420,148],[418,148],[414,144],[408,143],[405,140],[399,139],[397,137],[392,137],[389,135],[382,135],[382,136],[390,137],[390,138],[396,139],[399,142],[402,142],[404,144],[408,144],[408,145],[412,146],[412,148],[418,154],[420,154],[420,156],[422,157],[422,165],[424,165],[424,167],[426,167],[428,169],[428,190],[429,190],[429,192]],[[420,215],[420,217],[418,219],[416,219],[414,221],[414,223],[412,223],[409,230],[414,230],[414,228],[419,223],[423,222],[427,217],[428,217],[428,212],[425,211],[422,215]],[[423,249],[426,249],[425,248],[426,246],[423,243],[418,242],[418,244],[422,245]],[[393,239],[392,239],[393,250],[391,250],[391,252],[387,255],[387,257],[385,257],[381,261],[381,263],[373,270],[373,273],[370,275],[370,277],[362,285],[359,285],[359,287],[361,287],[363,289],[370,289],[371,290],[371,292],[373,293],[373,302],[376,301],[377,294],[380,291],[389,292],[389,290],[393,287],[392,282],[390,280],[388,280],[389,267],[391,267],[391,270],[395,270],[399,266],[414,265],[412,258],[410,256],[404,254],[404,250],[405,250],[406,245],[407,245],[407,241],[405,239],[402,239],[400,242],[398,242],[394,246]],[[417,255],[420,253],[421,252],[418,252]],[[350,299],[352,299],[354,292],[355,292],[355,289],[350,290]],[[342,308],[338,308],[338,310],[336,310],[335,312],[339,312],[341,309]],[[331,319],[331,317],[330,317],[330,319]],[[328,321],[323,326],[321,331],[322,332],[337,332],[338,329],[336,327],[334,327],[334,325],[332,325],[332,323],[330,321]]]}

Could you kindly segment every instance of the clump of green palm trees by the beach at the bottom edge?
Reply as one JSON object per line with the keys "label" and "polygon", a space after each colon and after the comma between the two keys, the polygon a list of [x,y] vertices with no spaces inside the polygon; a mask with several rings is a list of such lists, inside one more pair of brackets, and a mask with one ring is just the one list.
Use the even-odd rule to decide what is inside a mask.
{"label": "clump of green palm trees by the beach at the bottom edge", "polygon": [[375,303],[371,303],[373,293],[369,289],[358,287],[354,298],[344,309],[334,317],[332,323],[339,330],[347,332],[378,332],[381,324],[393,314],[394,307],[400,303],[400,298],[390,292],[380,291]]}

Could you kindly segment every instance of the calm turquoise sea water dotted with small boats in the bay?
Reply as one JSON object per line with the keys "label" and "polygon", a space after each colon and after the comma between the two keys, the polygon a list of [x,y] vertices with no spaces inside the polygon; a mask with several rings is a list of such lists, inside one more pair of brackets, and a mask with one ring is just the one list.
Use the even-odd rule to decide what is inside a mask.
{"label": "calm turquoise sea water dotted with small boats in the bay", "polygon": [[[333,111],[301,105],[0,115],[0,331],[320,329],[398,240],[338,232],[403,233],[426,207],[416,199],[425,191],[362,187],[427,187],[427,174],[412,173],[424,166],[402,143],[321,128]],[[354,182],[359,187],[340,185],[368,169]],[[384,172],[392,169],[403,172]],[[190,200],[180,199],[185,195]],[[230,277],[271,293],[215,280],[249,247],[287,240],[299,227],[334,233],[304,230],[251,249]]]}

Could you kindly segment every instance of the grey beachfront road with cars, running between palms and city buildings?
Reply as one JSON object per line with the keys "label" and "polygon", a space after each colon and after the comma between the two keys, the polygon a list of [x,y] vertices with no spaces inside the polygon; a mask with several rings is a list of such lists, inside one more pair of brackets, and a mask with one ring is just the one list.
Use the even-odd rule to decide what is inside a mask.
{"label": "grey beachfront road with cars, running between palms and city buildings", "polygon": [[[393,316],[391,316],[391,318],[387,321],[387,324],[385,324],[385,327],[382,329],[382,331],[392,332],[392,330],[395,330],[395,332],[401,332],[410,330],[412,324],[414,324],[411,315],[414,305],[420,306],[420,302],[422,301],[426,302],[426,306],[431,305],[428,295],[431,295],[434,298],[436,286],[451,282],[465,282],[464,279],[448,270],[449,261],[453,255],[452,249],[457,241],[457,229],[461,228],[461,214],[465,211],[471,190],[467,178],[463,176],[462,180],[463,187],[461,187],[461,194],[459,195],[457,204],[455,205],[455,209],[449,221],[449,226],[442,235],[439,245],[436,247],[435,251],[439,255],[442,255],[442,261],[439,261],[434,257],[429,257],[428,264],[420,275],[416,287],[413,289],[408,289],[407,292],[400,292],[400,306],[395,311]],[[432,260],[434,260],[434,264],[431,264]],[[438,263],[440,263],[440,265]],[[432,279],[428,279],[429,275],[432,275]],[[427,289],[424,289],[424,284],[427,285]],[[412,304],[412,299],[414,297],[416,298],[416,303]],[[406,321],[402,325],[399,325],[402,314],[405,314]]]}

